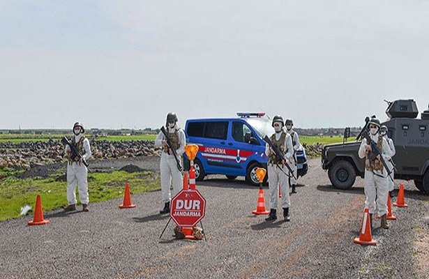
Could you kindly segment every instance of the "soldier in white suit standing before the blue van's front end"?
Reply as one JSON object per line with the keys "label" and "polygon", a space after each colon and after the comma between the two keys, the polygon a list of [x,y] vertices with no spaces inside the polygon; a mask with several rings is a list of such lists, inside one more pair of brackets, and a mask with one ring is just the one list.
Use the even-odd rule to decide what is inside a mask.
{"label": "soldier in white suit standing before the blue van's front end", "polygon": [[283,118],[280,115],[273,117],[273,122],[271,124],[274,127],[276,133],[271,135],[271,142],[273,145],[277,146],[279,151],[283,154],[285,160],[280,160],[276,157],[276,153],[271,149],[269,144],[265,146],[265,154],[269,157],[267,164],[268,169],[268,184],[269,184],[269,206],[270,213],[268,218],[265,220],[277,220],[277,206],[278,206],[278,185],[280,184],[280,193],[282,194],[281,205],[283,208],[283,218],[285,221],[289,222],[289,183],[288,176],[289,171],[285,164],[290,163],[294,153],[292,146],[292,139],[288,133],[283,130]]}

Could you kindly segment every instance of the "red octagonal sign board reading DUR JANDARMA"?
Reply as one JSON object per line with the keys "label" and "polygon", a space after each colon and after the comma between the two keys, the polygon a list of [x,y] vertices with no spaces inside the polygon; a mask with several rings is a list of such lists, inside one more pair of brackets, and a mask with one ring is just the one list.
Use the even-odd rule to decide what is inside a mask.
{"label": "red octagonal sign board reading DUR JANDARMA", "polygon": [[179,227],[197,225],[206,213],[206,199],[195,189],[181,190],[172,198],[170,216]]}

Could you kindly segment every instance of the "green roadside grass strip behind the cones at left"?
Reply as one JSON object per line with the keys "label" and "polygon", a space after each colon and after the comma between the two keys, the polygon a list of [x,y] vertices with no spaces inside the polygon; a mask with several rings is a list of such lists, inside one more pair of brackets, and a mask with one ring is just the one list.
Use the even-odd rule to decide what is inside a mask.
{"label": "green roadside grass strip behind the cones at left", "polygon": [[[22,206],[29,205],[33,209],[37,194],[42,197],[43,211],[67,205],[67,183],[56,181],[60,174],[48,179],[17,179],[8,170],[0,173],[3,173],[0,181],[0,220],[20,217]],[[88,174],[89,202],[123,197],[127,182],[130,184],[131,195],[160,189],[159,174],[153,172],[93,173]],[[29,211],[27,214],[33,212]]]}

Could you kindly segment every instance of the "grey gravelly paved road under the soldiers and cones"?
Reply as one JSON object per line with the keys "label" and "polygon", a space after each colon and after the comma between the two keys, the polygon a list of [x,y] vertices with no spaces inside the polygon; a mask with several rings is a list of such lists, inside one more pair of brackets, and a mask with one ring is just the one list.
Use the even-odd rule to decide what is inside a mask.
{"label": "grey gravelly paved road under the soldiers and cones", "polygon": [[336,190],[319,159],[309,165],[290,223],[253,215],[258,188],[243,179],[197,183],[207,241],[174,239],[173,222],[160,239],[169,216],[158,214],[159,191],[133,195],[135,209],[114,199],[89,213],[45,212],[48,225],[27,226],[32,216],[1,222],[0,278],[427,278],[428,198],[411,181],[398,181],[409,207],[393,206],[389,230],[375,222],[377,246],[360,246],[362,179]]}

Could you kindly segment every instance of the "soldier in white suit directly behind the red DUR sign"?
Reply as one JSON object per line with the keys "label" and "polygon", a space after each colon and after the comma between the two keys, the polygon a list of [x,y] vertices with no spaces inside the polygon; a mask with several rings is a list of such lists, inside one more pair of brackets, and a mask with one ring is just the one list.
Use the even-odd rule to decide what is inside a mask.
{"label": "soldier in white suit directly behind the red DUR sign", "polygon": [[161,214],[170,213],[170,185],[173,183],[173,196],[180,192],[183,186],[183,175],[177,167],[176,157],[183,166],[182,155],[185,152],[186,138],[183,129],[177,126],[177,116],[174,112],[167,114],[167,123],[165,123],[165,130],[168,133],[174,150],[170,149],[167,139],[163,132],[158,134],[155,140],[155,146],[163,146],[160,160],[160,174],[161,174],[161,195],[164,202],[164,208],[160,210]]}

